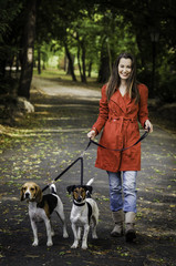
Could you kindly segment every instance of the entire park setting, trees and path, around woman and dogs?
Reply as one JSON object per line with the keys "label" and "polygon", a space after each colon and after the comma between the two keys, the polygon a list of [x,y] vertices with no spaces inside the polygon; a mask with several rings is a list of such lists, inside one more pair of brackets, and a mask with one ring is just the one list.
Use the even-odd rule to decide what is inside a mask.
{"label": "entire park setting, trees and path, around woman and dogs", "polygon": [[[174,0],[0,0],[0,263],[2,265],[175,265],[176,1]],[[101,86],[122,51],[137,60],[137,80],[148,86],[154,133],[142,143],[137,239],[112,239],[106,173],[95,170],[96,150],[84,162],[95,177],[101,209],[97,242],[89,249],[73,241],[66,185],[80,181],[75,165],[56,183],[70,238],[56,217],[54,246],[44,226],[33,249],[25,181],[42,187],[87,144],[99,113]],[[141,130],[142,133],[142,130]]]}

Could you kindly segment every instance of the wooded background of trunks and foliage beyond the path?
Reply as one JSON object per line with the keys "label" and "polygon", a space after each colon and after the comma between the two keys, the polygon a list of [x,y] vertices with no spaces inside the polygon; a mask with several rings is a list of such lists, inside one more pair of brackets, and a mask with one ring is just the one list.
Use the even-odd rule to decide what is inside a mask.
{"label": "wooded background of trunks and foliage beyond the path", "polygon": [[[122,51],[149,98],[176,101],[174,0],[0,1],[0,93],[30,99],[33,68],[105,83]],[[14,71],[15,70],[15,71]],[[17,75],[14,75],[14,72]]]}

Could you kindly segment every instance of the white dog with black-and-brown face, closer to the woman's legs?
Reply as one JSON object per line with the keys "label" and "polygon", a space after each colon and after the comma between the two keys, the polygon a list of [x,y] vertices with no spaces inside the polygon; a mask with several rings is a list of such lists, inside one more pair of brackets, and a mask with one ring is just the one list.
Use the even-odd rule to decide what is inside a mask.
{"label": "white dog with black-and-brown face, closer to the woman's legs", "polygon": [[71,248],[77,248],[81,239],[81,226],[84,227],[82,248],[87,248],[87,235],[92,222],[92,238],[97,239],[96,226],[99,223],[99,207],[94,200],[91,198],[93,178],[86,185],[68,186],[69,194],[73,195],[73,205],[70,221],[74,235],[74,243]]}

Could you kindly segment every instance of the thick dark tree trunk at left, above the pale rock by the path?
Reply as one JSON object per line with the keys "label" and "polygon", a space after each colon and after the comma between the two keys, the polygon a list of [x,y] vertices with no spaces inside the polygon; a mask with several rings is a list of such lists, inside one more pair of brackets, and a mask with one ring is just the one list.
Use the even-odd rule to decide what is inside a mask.
{"label": "thick dark tree trunk at left, above the pale rock by the path", "polygon": [[33,71],[33,50],[35,35],[37,0],[27,1],[27,22],[23,31],[21,76],[18,94],[30,98],[30,86]]}

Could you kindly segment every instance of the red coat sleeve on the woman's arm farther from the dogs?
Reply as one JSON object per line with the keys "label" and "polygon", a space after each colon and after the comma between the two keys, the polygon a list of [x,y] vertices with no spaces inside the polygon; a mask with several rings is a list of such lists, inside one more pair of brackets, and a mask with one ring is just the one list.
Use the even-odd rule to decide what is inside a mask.
{"label": "red coat sleeve on the woman's arm farther from the dogs", "polygon": [[145,121],[148,120],[148,89],[144,84],[139,84],[139,110],[138,110],[138,121],[143,127],[145,127]]}

